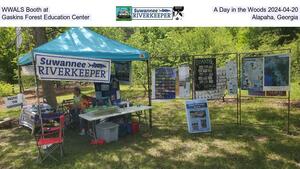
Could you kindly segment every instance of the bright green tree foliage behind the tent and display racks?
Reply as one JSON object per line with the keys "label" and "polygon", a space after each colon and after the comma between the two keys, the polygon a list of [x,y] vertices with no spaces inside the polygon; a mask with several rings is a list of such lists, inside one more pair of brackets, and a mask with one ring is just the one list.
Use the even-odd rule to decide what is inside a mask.
{"label": "bright green tree foliage behind the tent and display racks", "polygon": [[[67,28],[46,28],[48,40]],[[292,49],[293,76],[299,75],[300,28],[234,28],[234,27],[138,27],[91,28],[109,38],[146,50],[151,55],[152,67],[178,66],[191,60],[189,55],[246,52],[255,50]],[[0,80],[17,82],[16,61],[20,54],[30,51],[35,42],[31,28],[22,28],[23,43],[16,49],[15,28],[0,28]],[[230,57],[230,56],[224,56]],[[224,58],[226,60],[226,58]],[[145,66],[135,64],[136,70]]]}

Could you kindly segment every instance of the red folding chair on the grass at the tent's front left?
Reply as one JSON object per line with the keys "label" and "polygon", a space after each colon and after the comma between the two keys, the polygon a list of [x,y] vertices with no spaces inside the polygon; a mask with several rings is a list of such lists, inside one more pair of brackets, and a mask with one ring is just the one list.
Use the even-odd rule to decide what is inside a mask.
{"label": "red folding chair on the grass at the tent's front left", "polygon": [[36,144],[39,151],[38,161],[43,162],[48,157],[58,161],[52,153],[56,149],[60,149],[60,157],[63,157],[63,136],[64,136],[65,117],[59,117],[59,127],[44,128],[45,133],[36,137]]}

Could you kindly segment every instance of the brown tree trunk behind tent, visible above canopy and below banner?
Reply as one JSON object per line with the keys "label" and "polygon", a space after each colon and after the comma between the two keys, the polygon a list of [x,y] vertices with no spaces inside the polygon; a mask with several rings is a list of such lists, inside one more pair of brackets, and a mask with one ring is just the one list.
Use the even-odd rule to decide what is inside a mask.
{"label": "brown tree trunk behind tent, visible above canopy and below banner", "polygon": [[[46,36],[46,29],[44,27],[33,28],[33,36],[35,40],[35,46],[38,47],[48,42]],[[57,106],[56,93],[54,90],[54,83],[52,81],[41,81],[43,94],[47,103],[53,108]]]}

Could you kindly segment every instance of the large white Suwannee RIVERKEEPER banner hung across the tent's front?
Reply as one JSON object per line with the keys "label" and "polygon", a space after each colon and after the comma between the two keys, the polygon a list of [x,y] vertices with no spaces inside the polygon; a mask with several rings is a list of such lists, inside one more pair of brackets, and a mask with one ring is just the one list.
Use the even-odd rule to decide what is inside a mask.
{"label": "large white Suwannee RIVERKEEPER banner hung across the tent's front", "polygon": [[34,56],[40,80],[110,82],[110,60],[45,53],[35,53]]}

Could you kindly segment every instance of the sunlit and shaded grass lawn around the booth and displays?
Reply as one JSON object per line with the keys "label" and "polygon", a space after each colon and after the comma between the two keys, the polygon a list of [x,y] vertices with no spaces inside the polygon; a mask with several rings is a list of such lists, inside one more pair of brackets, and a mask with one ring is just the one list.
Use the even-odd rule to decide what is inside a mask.
{"label": "sunlit and shaded grass lawn around the booth and displays", "polygon": [[[140,98],[142,90],[122,89],[124,98],[146,103],[146,98]],[[84,92],[92,93],[92,89]],[[184,100],[154,101],[153,129],[143,127],[118,142],[90,145],[88,137],[66,130],[66,156],[61,162],[36,163],[37,149],[28,131],[0,130],[0,168],[300,168],[300,109],[292,108],[292,135],[287,135],[282,100],[243,103],[241,126],[236,125],[234,101],[212,101],[212,132],[189,134]],[[18,110],[10,113],[17,116]],[[0,117],[4,114],[0,112]]]}

